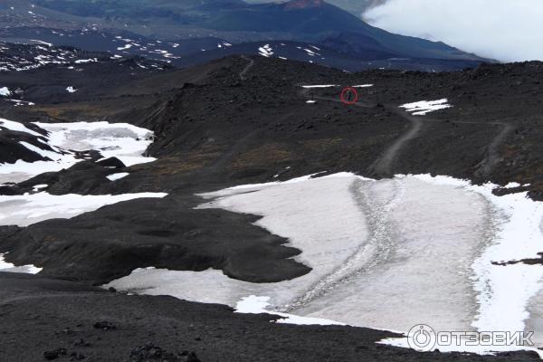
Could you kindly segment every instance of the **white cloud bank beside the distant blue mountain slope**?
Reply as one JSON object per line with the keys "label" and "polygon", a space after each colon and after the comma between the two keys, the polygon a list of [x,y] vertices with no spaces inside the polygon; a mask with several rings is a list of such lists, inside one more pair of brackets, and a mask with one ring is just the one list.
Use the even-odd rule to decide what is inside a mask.
{"label": "white cloud bank beside the distant blue mountain slope", "polygon": [[501,62],[543,61],[543,0],[388,0],[363,17]]}

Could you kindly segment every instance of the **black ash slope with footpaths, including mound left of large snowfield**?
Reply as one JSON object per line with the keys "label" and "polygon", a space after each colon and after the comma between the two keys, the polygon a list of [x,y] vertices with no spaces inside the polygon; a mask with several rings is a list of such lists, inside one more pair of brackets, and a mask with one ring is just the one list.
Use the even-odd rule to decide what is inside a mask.
{"label": "black ash slope with footpaths, including mound left of large snowfield", "polygon": [[[32,107],[3,108],[7,119],[129,121],[155,133],[148,155],[157,161],[116,170],[129,176],[110,181],[100,168],[81,164],[25,181],[16,192],[47,185],[43,191],[53,195],[170,195],[10,229],[0,251],[10,252],[9,262],[43,266],[43,274],[90,282],[110,281],[151,262],[176,270],[214,267],[246,281],[280,281],[307,271],[285,259],[297,251],[252,226],[243,228],[245,239],[252,242],[236,242],[240,226],[235,233],[226,230],[232,223],[254,219],[194,210],[195,193],[350,171],[374,177],[432,173],[501,186],[517,182],[518,186],[497,192],[529,191],[533,198],[541,198],[542,69],[541,63],[531,62],[457,73],[349,74],[300,62],[231,57],[189,70],[148,74],[116,88],[100,89],[90,83],[93,100],[36,100]],[[62,78],[62,70],[56,71]],[[323,84],[337,86],[302,87]],[[354,106],[338,98],[343,86],[370,84],[357,88],[360,99]],[[40,87],[33,85],[34,90]],[[450,108],[424,116],[399,108],[445,98]],[[132,207],[136,203],[141,206]],[[217,218],[219,224],[225,221],[220,244],[217,224],[207,217]],[[85,236],[89,230],[103,234],[99,242],[85,242],[93,257],[75,250],[60,252],[75,240],[82,243],[90,237]],[[129,241],[119,243],[121,233],[129,233]],[[38,252],[52,235],[58,243],[48,247],[59,252]],[[255,245],[262,243],[258,238],[267,245],[266,252],[257,252]],[[94,267],[100,263],[107,267]],[[74,264],[77,268],[67,267]]]}

